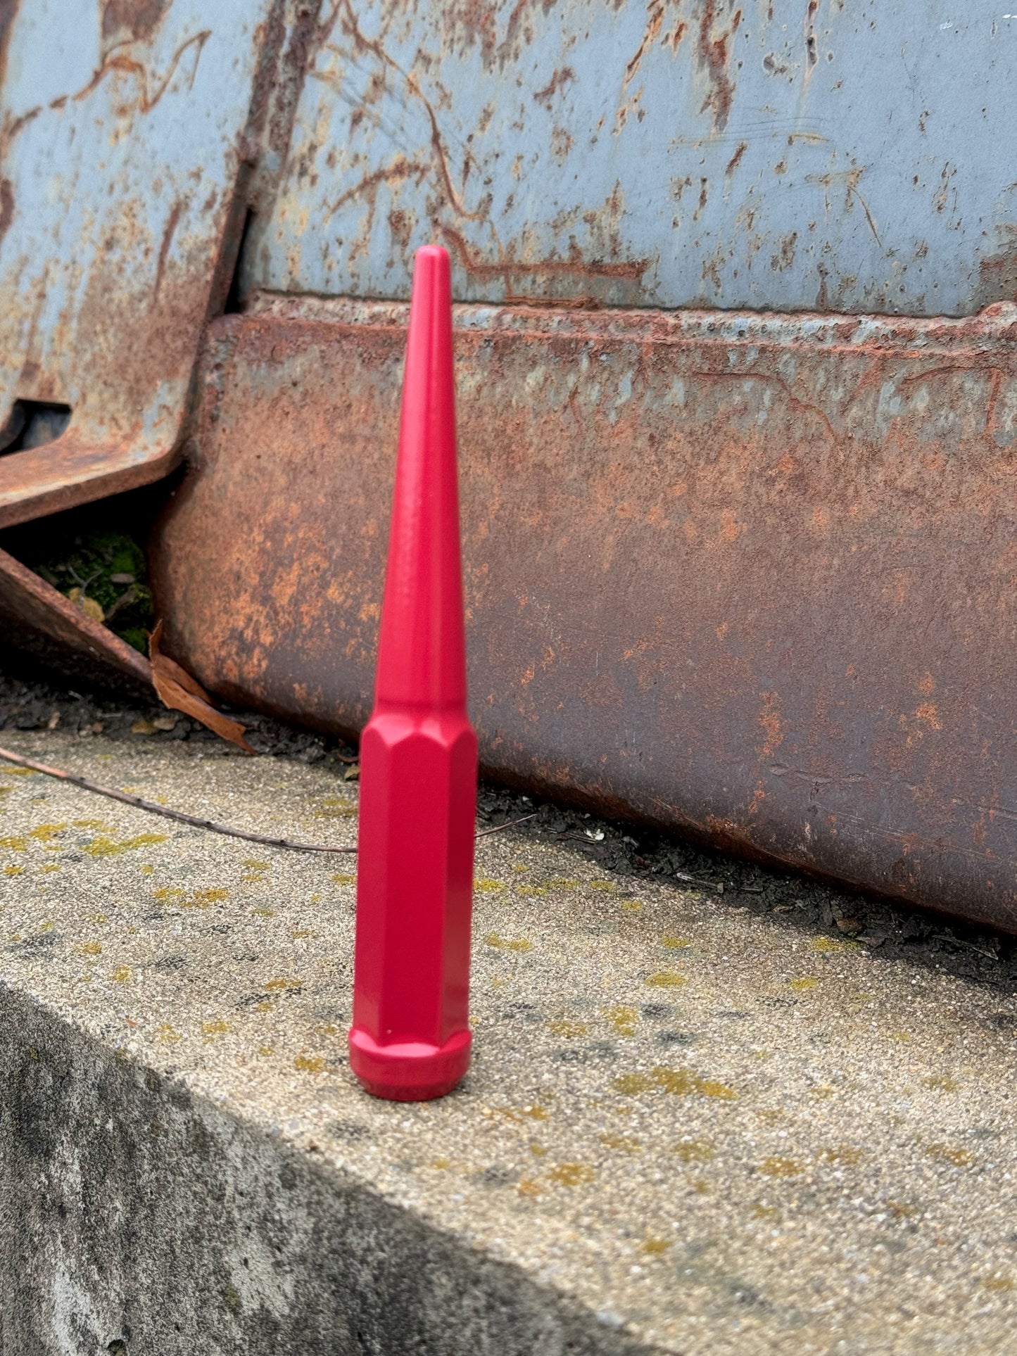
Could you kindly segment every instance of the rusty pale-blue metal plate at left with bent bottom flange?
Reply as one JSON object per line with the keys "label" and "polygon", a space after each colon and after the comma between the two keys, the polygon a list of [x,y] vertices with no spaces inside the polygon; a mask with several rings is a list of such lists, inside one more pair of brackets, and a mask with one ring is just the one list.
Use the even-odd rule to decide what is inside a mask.
{"label": "rusty pale-blue metal plate at left with bent bottom flange", "polygon": [[[12,0],[0,22],[0,523],[156,479],[258,133],[275,0]],[[237,221],[237,205],[240,218]],[[39,442],[37,438],[34,442]],[[16,446],[16,443],[15,443]]]}

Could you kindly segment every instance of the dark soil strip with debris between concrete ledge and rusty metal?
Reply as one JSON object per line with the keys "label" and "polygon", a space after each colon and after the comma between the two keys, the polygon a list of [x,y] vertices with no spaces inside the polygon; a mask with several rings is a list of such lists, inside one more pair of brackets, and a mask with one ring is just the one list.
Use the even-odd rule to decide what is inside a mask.
{"label": "dark soil strip with debris between concrete ledge and rusty metal", "polygon": [[[268,716],[237,712],[251,746],[262,755],[323,763],[338,777],[355,777],[357,751],[342,740],[294,730]],[[170,725],[171,728],[157,728]],[[26,660],[0,652],[0,730],[73,731],[79,738],[186,740],[205,755],[250,757],[159,702],[76,690],[43,677]],[[137,732],[144,731],[144,732]],[[544,797],[481,784],[480,819],[490,824],[530,815],[509,830],[557,842],[606,871],[640,880],[666,879],[716,898],[719,909],[770,914],[778,926],[857,938],[877,959],[903,959],[959,978],[1017,991],[1017,937],[972,928],[926,910],[845,892],[795,872],[759,866],[631,823],[612,823]],[[1010,1022],[1005,1014],[999,1021]]]}

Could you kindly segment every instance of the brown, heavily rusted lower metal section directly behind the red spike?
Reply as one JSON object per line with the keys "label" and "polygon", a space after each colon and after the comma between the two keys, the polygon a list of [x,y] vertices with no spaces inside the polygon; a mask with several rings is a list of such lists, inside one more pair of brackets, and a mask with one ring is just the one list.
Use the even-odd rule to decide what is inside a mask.
{"label": "brown, heavily rusted lower metal section directly behind the red spike", "polygon": [[[217,320],[156,538],[172,652],[370,709],[404,308]],[[457,308],[490,774],[1017,930],[1017,308]]]}

